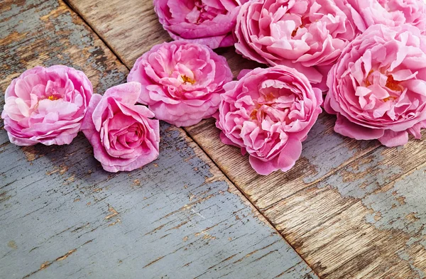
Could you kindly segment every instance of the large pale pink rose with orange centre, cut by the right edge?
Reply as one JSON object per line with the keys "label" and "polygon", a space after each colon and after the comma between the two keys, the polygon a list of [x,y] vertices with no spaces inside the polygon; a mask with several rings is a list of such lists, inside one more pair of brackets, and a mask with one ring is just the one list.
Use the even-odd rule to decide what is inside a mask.
{"label": "large pale pink rose with orange centre, cut by the right edge", "polygon": [[400,146],[426,125],[426,37],[413,26],[376,25],[343,51],[329,72],[324,108],[334,131]]}

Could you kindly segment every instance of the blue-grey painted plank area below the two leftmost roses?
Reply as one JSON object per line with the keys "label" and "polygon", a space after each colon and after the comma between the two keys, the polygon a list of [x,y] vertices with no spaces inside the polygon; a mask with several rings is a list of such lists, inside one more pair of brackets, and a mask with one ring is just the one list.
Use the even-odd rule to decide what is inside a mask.
{"label": "blue-grey painted plank area below the two leftmost roses", "polygon": [[182,131],[161,133],[155,163],[112,175],[82,136],[5,146],[0,278],[316,278]]}

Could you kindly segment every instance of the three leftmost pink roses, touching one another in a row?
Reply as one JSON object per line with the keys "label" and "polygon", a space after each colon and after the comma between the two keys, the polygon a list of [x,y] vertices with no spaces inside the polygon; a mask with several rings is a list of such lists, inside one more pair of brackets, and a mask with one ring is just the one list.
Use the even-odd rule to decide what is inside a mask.
{"label": "three leftmost pink roses, touching one another in a row", "polygon": [[158,120],[190,126],[212,116],[232,74],[207,46],[176,41],[155,45],[127,80],[101,96],[71,67],[27,70],[6,89],[4,128],[19,146],[69,144],[82,131],[104,170],[134,170],[158,157]]}

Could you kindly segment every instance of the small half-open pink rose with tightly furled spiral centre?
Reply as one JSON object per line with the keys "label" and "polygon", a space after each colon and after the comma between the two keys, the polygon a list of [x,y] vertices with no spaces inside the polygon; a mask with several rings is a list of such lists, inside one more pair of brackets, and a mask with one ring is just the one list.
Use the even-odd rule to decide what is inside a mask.
{"label": "small half-open pink rose with tightly furled spiral centre", "polygon": [[158,157],[159,121],[146,106],[136,106],[141,84],[111,87],[104,96],[94,94],[82,123],[93,146],[94,158],[111,173],[134,170]]}

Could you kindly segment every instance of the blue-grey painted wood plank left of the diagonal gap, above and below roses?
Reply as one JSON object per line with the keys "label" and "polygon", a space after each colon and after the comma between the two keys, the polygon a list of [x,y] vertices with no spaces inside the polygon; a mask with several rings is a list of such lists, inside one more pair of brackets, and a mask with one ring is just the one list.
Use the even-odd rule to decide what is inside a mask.
{"label": "blue-grey painted wood plank left of the diagonal gap, above and below roses", "polygon": [[[1,1],[0,106],[35,65],[84,70],[98,93],[128,69],[62,1]],[[107,173],[80,135],[9,143],[0,121],[0,278],[317,278],[182,129],[160,157]]]}

